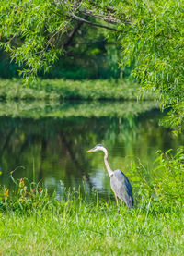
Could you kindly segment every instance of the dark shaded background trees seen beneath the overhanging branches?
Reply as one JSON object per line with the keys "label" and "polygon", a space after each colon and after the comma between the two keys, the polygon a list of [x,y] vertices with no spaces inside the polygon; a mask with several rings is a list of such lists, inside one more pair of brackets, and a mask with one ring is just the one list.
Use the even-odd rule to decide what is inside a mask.
{"label": "dark shaded background trees seen beneath the overhanging branches", "polygon": [[[16,43],[16,40],[15,40]],[[70,42],[65,45],[64,55],[52,65],[48,73],[39,72],[47,79],[118,79],[128,77],[131,67],[121,68],[121,43],[108,39],[105,29],[91,28],[82,24],[75,31]],[[0,77],[11,79],[18,77],[18,70],[23,69],[4,50],[0,52]]]}

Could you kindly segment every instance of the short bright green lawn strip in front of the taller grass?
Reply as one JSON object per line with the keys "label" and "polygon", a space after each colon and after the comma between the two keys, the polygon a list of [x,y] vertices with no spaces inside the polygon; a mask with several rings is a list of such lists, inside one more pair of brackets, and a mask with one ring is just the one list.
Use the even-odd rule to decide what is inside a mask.
{"label": "short bright green lawn strip in front of the taller grass", "polygon": [[[92,209],[91,209],[92,207]],[[2,255],[183,255],[184,215],[82,205],[71,213],[3,214]]]}

